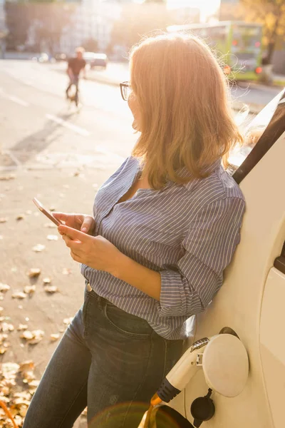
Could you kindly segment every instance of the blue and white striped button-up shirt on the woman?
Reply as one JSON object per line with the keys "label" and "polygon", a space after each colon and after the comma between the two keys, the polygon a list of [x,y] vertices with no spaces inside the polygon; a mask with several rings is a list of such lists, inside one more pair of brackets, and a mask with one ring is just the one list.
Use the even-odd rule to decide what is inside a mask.
{"label": "blue and white striped button-up shirt on the woman", "polygon": [[130,157],[100,187],[93,206],[95,235],[160,272],[160,301],[108,272],[86,265],[81,272],[98,295],[147,320],[162,337],[184,339],[187,319],[204,310],[222,285],[240,239],[244,196],[218,161],[207,178],[139,189],[118,203],[139,174],[138,159]]}

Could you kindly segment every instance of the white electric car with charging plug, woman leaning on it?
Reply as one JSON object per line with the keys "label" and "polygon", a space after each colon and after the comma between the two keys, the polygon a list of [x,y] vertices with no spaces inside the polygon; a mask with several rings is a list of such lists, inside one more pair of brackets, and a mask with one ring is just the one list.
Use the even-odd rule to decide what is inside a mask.
{"label": "white electric car with charging plug, woman leaning on it", "polygon": [[[192,370],[192,379],[169,403],[177,411],[170,409],[173,427],[285,427],[285,89],[249,124],[246,136],[248,145],[229,159],[247,203],[242,240],[221,290],[198,315],[187,343],[184,370],[185,376]],[[202,343],[203,338],[223,336],[223,327],[237,333],[233,343],[242,343],[242,357],[222,340],[216,340],[213,351],[212,339]],[[193,342],[201,348],[193,351],[198,352],[194,360]],[[168,377],[173,386],[183,384],[178,377]],[[208,391],[210,399],[208,395],[192,407]]]}

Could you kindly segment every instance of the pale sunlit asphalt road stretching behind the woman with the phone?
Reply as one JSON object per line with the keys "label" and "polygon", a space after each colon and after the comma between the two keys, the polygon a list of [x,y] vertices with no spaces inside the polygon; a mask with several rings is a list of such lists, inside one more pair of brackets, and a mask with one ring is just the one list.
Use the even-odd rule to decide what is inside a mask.
{"label": "pale sunlit asphalt road stretching behind the woman with the phone", "polygon": [[[113,71],[118,78],[118,68],[108,68],[109,78]],[[122,80],[128,79],[125,68],[120,73]],[[61,239],[48,240],[56,230],[46,227],[48,220],[31,199],[36,196],[47,208],[91,213],[96,189],[128,156],[137,138],[118,87],[82,81],[83,107],[78,112],[64,98],[66,84],[62,70],[49,64],[0,61],[0,218],[6,220],[0,223],[0,282],[10,286],[3,295],[0,292],[0,306],[1,315],[15,327],[0,362],[33,360],[37,378],[56,347],[49,336],[62,335],[63,320],[73,317],[83,302],[84,284]],[[251,93],[251,102],[266,103],[279,89],[235,91],[243,98],[246,93],[247,102]],[[24,218],[17,220],[19,215]],[[46,248],[35,253],[37,244]],[[41,269],[38,278],[26,275],[31,267]],[[48,294],[43,277],[51,277],[58,292]],[[30,284],[36,285],[33,294],[12,298]],[[28,330],[43,330],[43,340],[28,345],[16,330],[19,323],[27,324]],[[76,427],[79,424],[86,427],[84,419]]]}

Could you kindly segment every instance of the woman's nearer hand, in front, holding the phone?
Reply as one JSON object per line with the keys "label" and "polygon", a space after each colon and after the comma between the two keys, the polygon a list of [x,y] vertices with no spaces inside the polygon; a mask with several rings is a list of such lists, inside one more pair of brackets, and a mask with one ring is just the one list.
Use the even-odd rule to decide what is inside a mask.
{"label": "woman's nearer hand, in front, holding the phone", "polygon": [[89,236],[66,225],[58,226],[58,232],[71,249],[73,260],[115,275],[123,257],[123,253],[115,245],[102,236]]}

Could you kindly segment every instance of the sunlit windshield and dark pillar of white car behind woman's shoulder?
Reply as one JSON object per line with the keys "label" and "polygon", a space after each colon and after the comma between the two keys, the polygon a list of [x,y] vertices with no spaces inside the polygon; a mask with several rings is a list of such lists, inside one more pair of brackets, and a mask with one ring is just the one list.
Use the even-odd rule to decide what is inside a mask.
{"label": "sunlit windshield and dark pillar of white car behind woman's shoulder", "polygon": [[240,183],[285,131],[285,89],[246,126],[237,124],[244,135],[244,145],[234,148],[229,154],[227,171]]}

